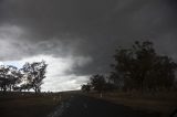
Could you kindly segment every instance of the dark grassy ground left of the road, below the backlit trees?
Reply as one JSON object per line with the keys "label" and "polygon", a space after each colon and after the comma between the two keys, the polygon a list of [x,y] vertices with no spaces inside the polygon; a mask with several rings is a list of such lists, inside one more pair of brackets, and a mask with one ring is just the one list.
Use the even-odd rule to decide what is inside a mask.
{"label": "dark grassy ground left of the road, below the backlit trees", "polygon": [[0,117],[45,117],[69,93],[0,93]]}

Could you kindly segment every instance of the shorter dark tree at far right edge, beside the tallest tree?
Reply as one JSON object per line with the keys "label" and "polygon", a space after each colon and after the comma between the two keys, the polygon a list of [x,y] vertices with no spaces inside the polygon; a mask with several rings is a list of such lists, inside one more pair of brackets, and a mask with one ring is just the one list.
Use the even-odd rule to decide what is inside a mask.
{"label": "shorter dark tree at far right edge, beside the tallest tree", "polygon": [[177,64],[168,56],[158,56],[149,76],[145,79],[148,89],[169,89],[175,86]]}

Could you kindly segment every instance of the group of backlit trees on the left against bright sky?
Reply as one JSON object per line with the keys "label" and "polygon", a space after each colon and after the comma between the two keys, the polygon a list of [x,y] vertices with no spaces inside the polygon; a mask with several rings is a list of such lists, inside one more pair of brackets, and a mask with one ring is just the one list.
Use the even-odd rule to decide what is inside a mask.
{"label": "group of backlit trees on the left against bright sky", "polygon": [[45,78],[46,64],[42,62],[25,63],[22,68],[13,65],[0,66],[0,89],[7,91],[41,91],[43,78]]}

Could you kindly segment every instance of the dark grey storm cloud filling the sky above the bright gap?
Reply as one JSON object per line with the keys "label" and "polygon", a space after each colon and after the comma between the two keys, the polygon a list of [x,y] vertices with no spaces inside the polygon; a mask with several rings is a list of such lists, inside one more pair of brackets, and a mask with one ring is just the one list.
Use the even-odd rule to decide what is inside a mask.
{"label": "dark grey storm cloud filling the sky above the bright gap", "polygon": [[108,73],[115,49],[135,40],[177,61],[176,11],[176,0],[1,0],[0,61],[82,57],[67,73],[75,82]]}

